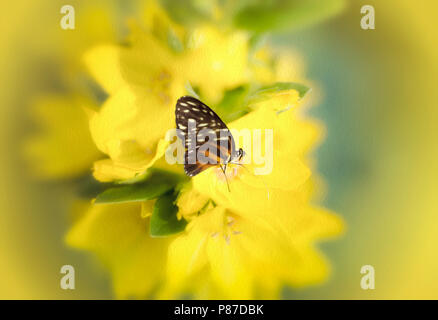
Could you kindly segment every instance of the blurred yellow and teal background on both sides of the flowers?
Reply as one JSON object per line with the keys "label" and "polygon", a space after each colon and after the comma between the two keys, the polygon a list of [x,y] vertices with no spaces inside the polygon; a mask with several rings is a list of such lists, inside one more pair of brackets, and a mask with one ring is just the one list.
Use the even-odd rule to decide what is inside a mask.
{"label": "blurred yellow and teal background on both sides of the flowers", "polygon": [[[31,100],[49,90],[62,92],[65,84],[56,79],[64,73],[68,78],[66,61],[74,63],[87,46],[81,9],[108,7],[112,24],[94,21],[102,21],[93,35],[101,40],[123,35],[125,18],[136,14],[131,2],[85,3],[69,2],[76,9],[75,31],[59,27],[61,1],[15,1],[0,8],[3,299],[112,297],[107,275],[63,243],[76,181],[41,181],[22,152],[35,129]],[[360,28],[365,4],[375,7],[375,30]],[[328,190],[324,205],[347,225],[342,239],[322,245],[333,265],[329,281],[287,289],[285,298],[438,298],[436,30],[438,5],[432,1],[349,1],[330,21],[274,38],[303,56],[308,78],[323,91],[312,114],[327,126],[316,152]],[[59,287],[64,264],[76,268],[76,290]],[[376,269],[373,291],[360,288],[366,264]]]}

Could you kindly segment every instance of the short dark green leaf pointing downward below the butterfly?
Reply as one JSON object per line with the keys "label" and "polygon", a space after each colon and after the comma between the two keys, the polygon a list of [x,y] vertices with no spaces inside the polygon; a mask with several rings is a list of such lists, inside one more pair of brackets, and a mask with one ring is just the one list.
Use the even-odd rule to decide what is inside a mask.
{"label": "short dark green leaf pointing downward below the butterfly", "polygon": [[155,202],[150,223],[151,237],[165,237],[184,231],[187,221],[178,220],[175,205],[176,195],[174,192],[166,193]]}

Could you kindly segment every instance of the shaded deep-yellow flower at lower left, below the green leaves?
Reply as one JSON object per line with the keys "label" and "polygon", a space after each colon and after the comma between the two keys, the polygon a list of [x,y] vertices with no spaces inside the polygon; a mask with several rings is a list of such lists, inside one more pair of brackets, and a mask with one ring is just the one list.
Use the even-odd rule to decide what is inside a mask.
{"label": "shaded deep-yellow flower at lower left, below the green leaves", "polygon": [[150,298],[163,280],[170,239],[149,236],[149,219],[142,215],[148,216],[152,205],[92,205],[66,236],[71,247],[96,254],[111,272],[118,298]]}

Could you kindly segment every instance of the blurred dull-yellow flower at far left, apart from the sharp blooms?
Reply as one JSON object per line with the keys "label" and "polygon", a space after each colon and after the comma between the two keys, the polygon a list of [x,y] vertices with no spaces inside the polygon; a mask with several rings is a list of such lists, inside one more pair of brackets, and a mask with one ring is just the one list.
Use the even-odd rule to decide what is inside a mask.
{"label": "blurred dull-yellow flower at far left, apart from the sharp blooms", "polygon": [[87,109],[96,104],[85,97],[50,95],[33,105],[38,132],[24,145],[32,171],[41,178],[72,178],[89,172],[100,157],[88,130]]}

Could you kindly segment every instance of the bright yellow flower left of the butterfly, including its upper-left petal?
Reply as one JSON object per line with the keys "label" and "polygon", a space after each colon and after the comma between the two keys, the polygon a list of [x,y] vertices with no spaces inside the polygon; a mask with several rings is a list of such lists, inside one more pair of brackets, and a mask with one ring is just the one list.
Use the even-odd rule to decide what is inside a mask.
{"label": "bright yellow flower left of the butterfly, including its upper-left petal", "polygon": [[133,178],[164,154],[159,141],[172,128],[173,101],[184,93],[184,83],[168,71],[170,52],[146,35],[134,48],[98,47],[86,56],[92,74],[110,93],[90,120],[93,140],[109,156],[95,163],[100,181]]}

